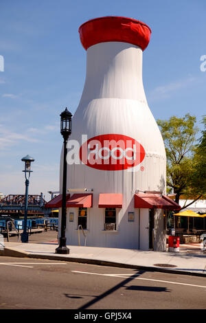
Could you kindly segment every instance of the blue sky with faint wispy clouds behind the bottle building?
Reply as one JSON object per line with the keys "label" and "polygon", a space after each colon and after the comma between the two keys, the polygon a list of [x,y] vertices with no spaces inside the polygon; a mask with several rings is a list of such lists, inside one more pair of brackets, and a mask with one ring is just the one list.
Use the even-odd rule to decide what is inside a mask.
{"label": "blue sky with faint wispy clouds behind the bottle building", "polygon": [[205,0],[1,0],[0,192],[22,194],[23,162],[34,157],[30,193],[58,190],[60,113],[76,111],[86,52],[78,27],[99,16],[127,16],[151,30],[143,80],[156,119],[205,114]]}

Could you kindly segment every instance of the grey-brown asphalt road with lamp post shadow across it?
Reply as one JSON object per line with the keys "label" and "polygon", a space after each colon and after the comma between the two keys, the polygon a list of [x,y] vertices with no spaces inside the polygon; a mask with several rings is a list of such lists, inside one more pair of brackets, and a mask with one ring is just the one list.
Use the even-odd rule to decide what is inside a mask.
{"label": "grey-brown asphalt road with lamp post shadow across it", "polygon": [[0,257],[0,309],[205,309],[204,277]]}

